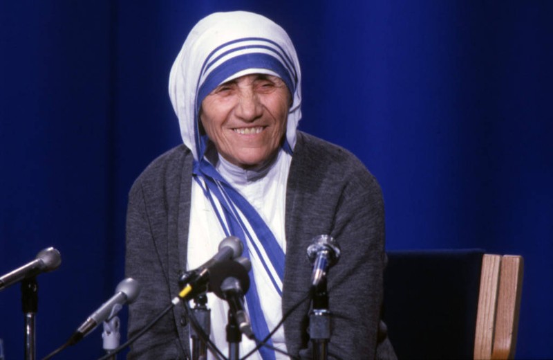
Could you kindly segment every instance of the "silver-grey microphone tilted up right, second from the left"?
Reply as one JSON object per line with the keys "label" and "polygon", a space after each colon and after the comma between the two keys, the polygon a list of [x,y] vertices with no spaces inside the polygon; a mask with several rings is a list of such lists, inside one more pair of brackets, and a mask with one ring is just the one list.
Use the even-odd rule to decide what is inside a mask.
{"label": "silver-grey microphone tilted up right, second from the left", "polygon": [[68,345],[74,345],[84,336],[90,334],[97,325],[104,321],[110,321],[115,314],[122,309],[125,303],[133,303],[140,294],[140,285],[133,278],[126,278],[115,288],[115,295],[100,306],[86,321],[73,333]]}

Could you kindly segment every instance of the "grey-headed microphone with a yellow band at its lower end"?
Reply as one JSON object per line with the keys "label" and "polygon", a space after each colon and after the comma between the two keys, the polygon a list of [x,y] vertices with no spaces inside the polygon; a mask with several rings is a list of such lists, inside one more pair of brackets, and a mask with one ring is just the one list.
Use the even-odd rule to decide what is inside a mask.
{"label": "grey-headed microphone with a yellow band at its lower end", "polygon": [[[244,246],[240,239],[236,236],[225,237],[219,243],[218,252],[207,262],[200,265],[197,269],[187,271],[178,279],[178,285],[182,289],[181,298],[192,298],[202,292],[207,291],[207,282],[209,281],[209,273],[212,267],[220,262],[225,262],[238,258],[242,255]],[[188,286],[187,286],[188,285]]]}

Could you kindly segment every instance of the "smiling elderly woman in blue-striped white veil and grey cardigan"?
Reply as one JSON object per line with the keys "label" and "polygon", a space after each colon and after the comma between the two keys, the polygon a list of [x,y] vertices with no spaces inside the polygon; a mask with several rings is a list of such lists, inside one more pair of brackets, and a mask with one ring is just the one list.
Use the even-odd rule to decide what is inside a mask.
{"label": "smiling elderly woman in blue-striped white veil and grey cardigan", "polygon": [[[142,285],[129,336],[162,312],[195,269],[235,235],[252,263],[245,295],[256,339],[296,307],[270,345],[311,357],[312,264],[306,249],[328,234],[341,247],[328,273],[330,357],[394,358],[380,321],[384,208],[375,178],[353,154],[297,130],[301,74],[285,31],[250,12],[209,15],[189,33],[169,80],[184,145],[153,161],[129,194],[126,275]],[[212,341],[227,349],[227,304],[208,294]],[[186,359],[188,320],[175,307],[129,358]],[[245,336],[240,353],[255,348]],[[261,348],[252,359],[281,359]],[[288,359],[288,357],[285,357]]]}

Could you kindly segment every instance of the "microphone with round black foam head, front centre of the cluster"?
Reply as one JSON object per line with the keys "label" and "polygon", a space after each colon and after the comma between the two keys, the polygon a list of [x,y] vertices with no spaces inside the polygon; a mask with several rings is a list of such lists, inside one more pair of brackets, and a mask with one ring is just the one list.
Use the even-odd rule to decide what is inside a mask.
{"label": "microphone with round black foam head, front centre of the cluster", "polygon": [[227,300],[229,309],[236,319],[236,325],[242,334],[254,339],[250,316],[244,307],[244,294],[250,289],[250,277],[247,272],[252,268],[250,260],[240,258],[239,261],[227,260],[212,267],[209,279],[209,291]]}

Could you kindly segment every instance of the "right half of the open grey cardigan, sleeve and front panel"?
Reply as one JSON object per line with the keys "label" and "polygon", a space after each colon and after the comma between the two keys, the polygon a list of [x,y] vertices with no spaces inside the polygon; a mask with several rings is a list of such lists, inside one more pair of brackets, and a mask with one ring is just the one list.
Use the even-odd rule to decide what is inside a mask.
{"label": "right half of the open grey cardigan, sleeve and front panel", "polygon": [[[386,262],[382,190],[341,147],[306,134],[298,144],[288,183],[284,312],[309,289],[312,264],[306,248],[312,237],[331,235],[341,255],[328,271],[329,357],[395,359],[380,319]],[[304,359],[312,357],[309,310],[300,306],[285,322],[289,350]]]}

